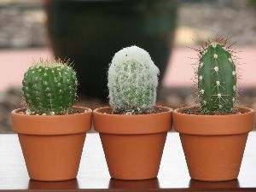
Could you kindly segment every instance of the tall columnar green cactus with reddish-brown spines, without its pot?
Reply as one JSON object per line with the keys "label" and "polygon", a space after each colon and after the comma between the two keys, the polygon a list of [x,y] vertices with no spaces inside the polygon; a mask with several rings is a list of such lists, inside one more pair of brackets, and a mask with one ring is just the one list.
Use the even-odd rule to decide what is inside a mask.
{"label": "tall columnar green cactus with reddish-brown spines, without its pot", "polygon": [[236,66],[224,38],[209,39],[197,70],[201,113],[231,113],[236,102]]}

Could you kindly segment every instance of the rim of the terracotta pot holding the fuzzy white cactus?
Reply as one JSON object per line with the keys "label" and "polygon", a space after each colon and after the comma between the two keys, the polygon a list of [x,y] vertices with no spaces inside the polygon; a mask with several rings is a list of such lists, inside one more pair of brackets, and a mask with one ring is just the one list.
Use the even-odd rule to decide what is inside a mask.
{"label": "rim of the terracotta pot holding the fuzzy white cactus", "polygon": [[156,106],[161,113],[148,114],[110,114],[104,111],[111,107],[96,108],[93,111],[94,128],[100,133],[114,135],[154,134],[172,129],[172,108]]}

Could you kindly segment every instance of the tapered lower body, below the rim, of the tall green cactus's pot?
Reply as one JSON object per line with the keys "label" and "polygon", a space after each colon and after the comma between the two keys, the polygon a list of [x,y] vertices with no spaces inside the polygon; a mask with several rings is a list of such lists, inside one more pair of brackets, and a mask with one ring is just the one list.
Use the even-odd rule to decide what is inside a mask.
{"label": "tapered lower body, below the rim, of the tall green cactus's pot", "polygon": [[180,134],[190,177],[207,182],[236,179],[247,143],[247,135],[191,136]]}

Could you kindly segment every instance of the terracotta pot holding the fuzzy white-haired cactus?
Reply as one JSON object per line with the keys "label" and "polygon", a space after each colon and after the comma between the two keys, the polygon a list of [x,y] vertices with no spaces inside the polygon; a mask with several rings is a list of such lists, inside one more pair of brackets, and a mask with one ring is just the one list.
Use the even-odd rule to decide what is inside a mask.
{"label": "terracotta pot holding the fuzzy white-haired cactus", "polygon": [[157,108],[162,113],[119,115],[109,114],[111,108],[94,110],[94,127],[100,132],[111,177],[157,177],[167,131],[172,129],[172,109]]}

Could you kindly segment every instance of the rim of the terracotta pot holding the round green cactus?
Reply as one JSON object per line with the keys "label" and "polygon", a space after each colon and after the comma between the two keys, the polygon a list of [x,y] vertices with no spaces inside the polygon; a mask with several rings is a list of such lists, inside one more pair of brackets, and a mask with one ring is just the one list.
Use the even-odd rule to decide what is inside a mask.
{"label": "rim of the terracotta pot holding the round green cactus", "polygon": [[92,110],[73,108],[87,111],[64,115],[26,115],[19,113],[26,108],[17,108],[11,112],[13,131],[26,135],[68,135],[89,131]]}

